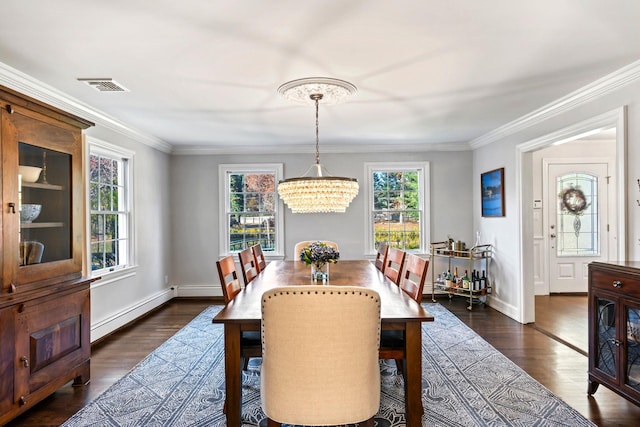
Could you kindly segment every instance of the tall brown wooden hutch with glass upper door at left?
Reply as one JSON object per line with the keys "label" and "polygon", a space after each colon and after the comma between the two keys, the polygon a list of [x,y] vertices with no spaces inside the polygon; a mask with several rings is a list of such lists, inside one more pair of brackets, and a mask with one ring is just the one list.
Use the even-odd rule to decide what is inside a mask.
{"label": "tall brown wooden hutch with glass upper door at left", "polygon": [[0,425],[89,381],[82,130],[0,87]]}

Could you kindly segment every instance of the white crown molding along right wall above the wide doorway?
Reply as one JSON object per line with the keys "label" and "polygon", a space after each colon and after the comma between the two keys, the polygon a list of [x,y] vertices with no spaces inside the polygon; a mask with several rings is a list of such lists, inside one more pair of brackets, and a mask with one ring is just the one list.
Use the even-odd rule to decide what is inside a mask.
{"label": "white crown molding along right wall above the wide doorway", "polygon": [[580,105],[584,105],[604,95],[612,93],[623,86],[634,83],[640,79],[640,61],[622,67],[582,88],[559,98],[542,108],[532,111],[506,125],[473,139],[469,146],[475,150],[499,141],[509,135],[542,123],[554,116],[570,111]]}

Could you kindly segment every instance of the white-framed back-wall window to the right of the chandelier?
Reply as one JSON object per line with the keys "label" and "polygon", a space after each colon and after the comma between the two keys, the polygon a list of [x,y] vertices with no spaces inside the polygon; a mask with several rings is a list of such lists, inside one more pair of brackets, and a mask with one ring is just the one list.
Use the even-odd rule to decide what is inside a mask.
{"label": "white-framed back-wall window to the right of the chandelier", "polygon": [[365,253],[380,243],[417,254],[430,241],[429,162],[365,163]]}

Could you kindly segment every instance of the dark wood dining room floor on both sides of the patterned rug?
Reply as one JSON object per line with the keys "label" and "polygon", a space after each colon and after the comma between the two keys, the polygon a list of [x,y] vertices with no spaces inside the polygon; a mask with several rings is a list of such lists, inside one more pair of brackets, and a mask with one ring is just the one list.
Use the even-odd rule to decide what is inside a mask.
{"label": "dark wood dining room floor on both sides of the patterned rug", "polygon": [[[489,307],[478,306],[469,312],[461,298],[449,301],[445,296],[439,302],[597,425],[640,424],[640,407],[605,387],[601,386],[593,397],[587,396],[587,358],[561,340],[531,325],[521,325]],[[211,300],[172,300],[133,326],[114,333],[92,349],[89,385],[79,388],[67,385],[7,426],[59,426],[211,303]]]}

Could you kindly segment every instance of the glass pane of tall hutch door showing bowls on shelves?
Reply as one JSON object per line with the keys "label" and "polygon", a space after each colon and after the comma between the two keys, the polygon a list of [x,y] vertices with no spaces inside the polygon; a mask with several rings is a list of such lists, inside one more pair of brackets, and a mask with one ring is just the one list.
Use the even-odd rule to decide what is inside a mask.
{"label": "glass pane of tall hutch door showing bowls on shelves", "polygon": [[71,155],[18,144],[19,264],[72,257]]}

